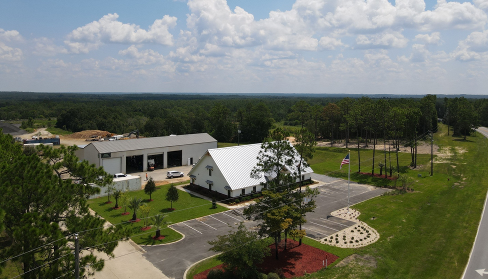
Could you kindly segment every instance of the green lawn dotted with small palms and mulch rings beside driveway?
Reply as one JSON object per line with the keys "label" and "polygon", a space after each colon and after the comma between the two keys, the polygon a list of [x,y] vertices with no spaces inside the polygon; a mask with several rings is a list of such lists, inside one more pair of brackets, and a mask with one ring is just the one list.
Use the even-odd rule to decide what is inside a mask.
{"label": "green lawn dotted with small palms and mulch rings beside driveway", "polygon": [[[206,199],[191,195],[185,191],[178,190],[179,199],[173,202],[174,211],[170,210],[171,203],[166,201],[166,192],[168,191],[169,184],[157,186],[157,190],[152,194],[151,198],[153,201],[148,202],[149,195],[144,193],[144,190],[129,192],[130,197],[140,197],[145,203],[147,203],[151,210],[149,216],[154,216],[157,214],[167,214],[165,220],[170,223],[177,223],[185,220],[190,220],[209,214],[225,211],[226,208],[217,204],[217,208],[212,208],[212,203]],[[129,215],[121,215],[124,212],[124,208],[114,210],[112,207],[115,205],[115,199],[112,197],[112,203],[105,203],[107,197],[94,198],[88,201],[90,208],[96,211],[103,218],[115,223],[123,223],[122,225],[129,229],[132,240],[138,244],[144,245],[154,245],[168,243],[180,239],[182,236],[178,232],[171,228],[165,227],[161,229],[161,235],[165,238],[162,240],[153,240],[151,237],[155,235],[155,228],[151,228],[146,231],[141,231],[144,227],[144,222],[128,222],[132,218],[132,210],[127,207],[127,211],[130,212]],[[120,204],[119,204],[120,205]],[[138,218],[142,218],[140,212],[137,213]],[[149,224],[152,222],[149,220]]]}

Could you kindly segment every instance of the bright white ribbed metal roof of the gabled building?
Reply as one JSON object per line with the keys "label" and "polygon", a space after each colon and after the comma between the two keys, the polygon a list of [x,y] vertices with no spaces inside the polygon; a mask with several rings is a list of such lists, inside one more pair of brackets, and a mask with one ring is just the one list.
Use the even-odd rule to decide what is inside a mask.
{"label": "bright white ribbed metal roof of the gabled building", "polygon": [[[229,183],[230,188],[235,190],[258,185],[267,181],[265,174],[259,178],[251,177],[251,171],[258,163],[257,157],[259,151],[261,151],[261,143],[208,149],[207,152],[217,164],[218,169]],[[300,160],[300,155],[298,155],[298,153],[296,154],[296,158],[298,161]],[[193,169],[196,169],[196,167]],[[190,170],[188,174],[190,174],[193,169]],[[291,169],[290,172],[295,170],[296,167]],[[314,171],[308,166],[302,174],[312,172]]]}

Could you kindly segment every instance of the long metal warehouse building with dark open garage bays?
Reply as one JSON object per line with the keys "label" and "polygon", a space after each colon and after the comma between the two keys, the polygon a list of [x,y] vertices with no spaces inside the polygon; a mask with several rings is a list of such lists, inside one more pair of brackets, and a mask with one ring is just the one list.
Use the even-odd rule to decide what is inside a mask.
{"label": "long metal warehouse building with dark open garage bays", "polygon": [[148,160],[156,168],[196,163],[208,149],[217,148],[217,140],[208,133],[94,141],[80,150],[80,159],[108,173],[147,171]]}

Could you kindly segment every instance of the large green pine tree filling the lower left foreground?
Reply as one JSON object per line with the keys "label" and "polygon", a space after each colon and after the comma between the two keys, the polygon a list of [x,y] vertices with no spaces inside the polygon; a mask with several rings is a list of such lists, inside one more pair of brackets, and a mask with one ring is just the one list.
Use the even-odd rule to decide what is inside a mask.
{"label": "large green pine tree filling the lower left foreground", "polygon": [[[128,235],[120,226],[89,230],[103,227],[105,222],[88,212],[87,196],[99,191],[89,183],[97,181],[99,175],[110,175],[103,168],[79,162],[74,155],[76,148],[42,148],[46,160],[37,154],[27,156],[13,143],[12,136],[0,131],[0,208],[5,210],[9,237],[16,239],[4,248],[4,256],[24,253],[17,258],[27,272],[24,278],[56,278],[74,269],[71,235],[83,231],[79,233],[81,249],[85,250],[80,272],[81,276],[93,274],[103,268],[103,259],[94,251],[111,254],[116,240]],[[54,153],[62,154],[66,161],[49,160],[49,154]]]}

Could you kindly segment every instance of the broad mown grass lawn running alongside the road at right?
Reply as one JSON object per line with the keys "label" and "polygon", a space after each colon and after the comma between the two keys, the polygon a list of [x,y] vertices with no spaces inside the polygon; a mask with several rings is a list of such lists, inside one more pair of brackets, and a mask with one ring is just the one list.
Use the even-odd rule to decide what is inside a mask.
{"label": "broad mown grass lawn running alongside the road at right", "polygon": [[[361,212],[360,219],[380,233],[377,242],[354,251],[372,256],[376,267],[350,264],[305,278],[461,276],[488,187],[484,177],[488,140],[479,134],[467,140],[447,136],[446,126],[434,134],[434,140],[449,155],[434,160],[433,176],[420,178],[416,170],[407,172],[415,192],[380,196],[353,206]],[[429,170],[425,164],[423,172]],[[373,216],[376,219],[371,220]]]}

